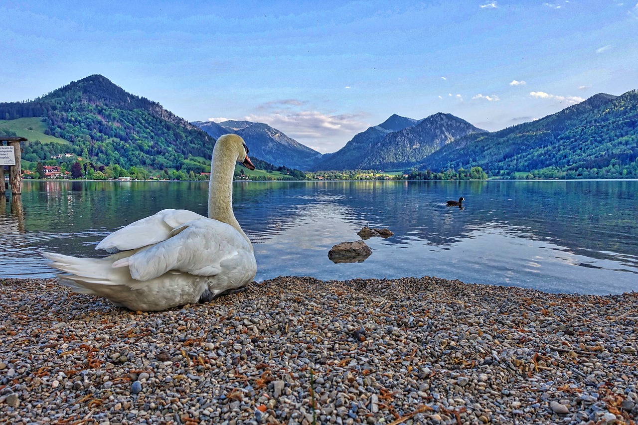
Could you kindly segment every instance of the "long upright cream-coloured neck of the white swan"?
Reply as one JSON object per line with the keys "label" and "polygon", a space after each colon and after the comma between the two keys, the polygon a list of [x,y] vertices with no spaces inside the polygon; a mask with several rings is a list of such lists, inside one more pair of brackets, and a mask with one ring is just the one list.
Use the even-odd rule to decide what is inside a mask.
{"label": "long upright cream-coloured neck of the white swan", "polygon": [[[208,216],[214,220],[228,223],[250,243],[233,213],[233,174],[235,157],[226,152],[219,144],[212,152],[211,182],[208,186]],[[226,149],[227,150],[227,149]]]}

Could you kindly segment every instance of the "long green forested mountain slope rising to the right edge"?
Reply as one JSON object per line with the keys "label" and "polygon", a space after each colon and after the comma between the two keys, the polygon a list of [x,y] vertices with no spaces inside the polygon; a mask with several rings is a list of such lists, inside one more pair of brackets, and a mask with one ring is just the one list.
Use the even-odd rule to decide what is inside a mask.
{"label": "long green forested mountain slope rising to the right edge", "polygon": [[[549,170],[556,177],[638,174],[638,92],[596,94],[531,123],[455,140],[420,170],[482,167],[492,172]],[[553,177],[554,175],[539,175]],[[612,175],[613,174],[613,175]]]}

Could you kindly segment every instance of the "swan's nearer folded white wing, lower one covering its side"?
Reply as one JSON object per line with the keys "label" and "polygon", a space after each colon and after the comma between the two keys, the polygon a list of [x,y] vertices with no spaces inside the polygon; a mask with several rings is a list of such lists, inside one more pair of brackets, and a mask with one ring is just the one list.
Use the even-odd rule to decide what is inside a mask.
{"label": "swan's nearer folded white wing, lower one covering its side", "polygon": [[244,237],[221,221],[194,220],[175,229],[175,233],[166,241],[114,262],[113,267],[128,266],[131,277],[138,281],[175,270],[197,276],[215,276],[223,266],[227,267],[229,263],[241,265],[244,263],[242,256],[252,255]]}

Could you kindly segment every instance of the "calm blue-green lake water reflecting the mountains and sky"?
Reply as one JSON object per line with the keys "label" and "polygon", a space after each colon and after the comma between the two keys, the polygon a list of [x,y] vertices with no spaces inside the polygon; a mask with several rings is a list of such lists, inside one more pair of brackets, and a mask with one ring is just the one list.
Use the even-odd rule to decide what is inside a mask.
{"label": "calm blue-green lake water reflecting the mountains and sky", "polygon": [[[107,234],[164,208],[206,214],[207,182],[25,181],[0,198],[0,277],[50,278],[39,250],[96,257]],[[237,182],[237,220],[261,281],[438,276],[546,292],[638,290],[638,181]],[[447,207],[465,198],[464,209]],[[333,264],[332,245],[363,226],[361,263]]]}

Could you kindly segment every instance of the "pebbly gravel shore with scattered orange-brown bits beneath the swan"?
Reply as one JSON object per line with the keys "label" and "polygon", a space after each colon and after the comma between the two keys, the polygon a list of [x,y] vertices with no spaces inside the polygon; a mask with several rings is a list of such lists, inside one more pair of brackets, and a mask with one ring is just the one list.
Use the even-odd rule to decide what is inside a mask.
{"label": "pebbly gravel shore with scattered orange-brown bits beneath the swan", "polygon": [[159,313],[0,280],[0,422],[635,424],[638,293],[281,277]]}

